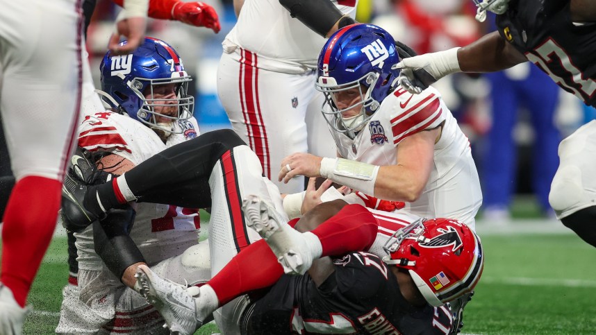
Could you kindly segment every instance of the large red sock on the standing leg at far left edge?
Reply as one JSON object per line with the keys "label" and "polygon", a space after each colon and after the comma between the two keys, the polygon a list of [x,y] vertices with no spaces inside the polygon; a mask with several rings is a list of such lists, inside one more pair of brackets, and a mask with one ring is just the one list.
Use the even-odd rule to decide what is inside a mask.
{"label": "large red sock on the standing leg at far left edge", "polygon": [[0,281],[21,307],[56,228],[61,187],[58,180],[28,176],[15,184],[6,205]]}

